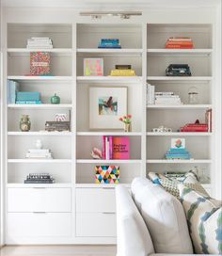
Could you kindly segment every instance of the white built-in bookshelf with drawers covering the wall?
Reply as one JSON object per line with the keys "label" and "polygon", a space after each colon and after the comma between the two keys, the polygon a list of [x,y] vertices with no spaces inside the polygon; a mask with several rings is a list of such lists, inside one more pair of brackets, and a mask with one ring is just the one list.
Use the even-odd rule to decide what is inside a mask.
{"label": "white built-in bookshelf with drawers covering the wall", "polygon": [[[214,163],[218,161],[214,155],[214,132],[218,129],[214,125],[215,121],[212,133],[178,132],[186,123],[197,119],[204,122],[207,109],[212,108],[214,115],[214,87],[218,85],[214,83],[212,33],[211,24],[8,24],[8,71],[5,81],[18,81],[24,91],[40,91],[43,102],[40,105],[8,104],[6,108],[8,193],[19,193],[22,191],[20,189],[33,188],[35,193],[39,191],[40,194],[46,195],[46,191],[51,189],[53,192],[49,193],[52,193],[50,195],[53,206],[56,204],[54,192],[58,195],[58,201],[63,195],[67,195],[66,193],[71,197],[69,201],[64,202],[70,203],[69,210],[64,212],[63,208],[58,207],[58,210],[50,212],[49,216],[53,216],[51,218],[47,215],[33,215],[31,211],[23,214],[19,207],[19,210],[16,210],[16,206],[12,212],[7,210],[8,244],[54,244],[57,241],[60,244],[115,243],[116,185],[95,184],[96,165],[118,165],[120,184],[126,186],[130,186],[135,177],[146,177],[149,171],[188,171],[197,166],[211,177],[212,184],[204,186],[214,195]],[[54,49],[47,50],[51,54],[53,76],[27,75],[30,52],[45,51],[25,48],[26,40],[34,36],[50,37],[54,42]],[[195,49],[165,49],[166,40],[172,36],[191,37],[195,41]],[[102,38],[118,38],[122,49],[98,49],[98,42]],[[103,57],[104,76],[84,76],[85,57]],[[165,71],[171,63],[189,64],[192,76],[166,76]],[[136,76],[109,76],[116,64],[131,64]],[[156,91],[174,91],[180,95],[183,104],[147,106],[147,83],[155,85]],[[133,116],[131,133],[125,133],[123,130],[89,129],[90,87],[127,88],[128,114]],[[198,88],[199,104],[188,104],[190,87]],[[61,98],[61,104],[50,104],[50,97],[54,93]],[[44,132],[46,120],[53,120],[56,113],[65,113],[69,116],[70,111],[71,132]],[[23,114],[30,116],[30,132],[21,132],[19,129],[19,120]],[[216,118],[214,116],[214,120]],[[172,128],[172,132],[151,132],[152,128],[160,125]],[[91,149],[103,148],[103,136],[129,136],[130,160],[92,159]],[[173,137],[186,139],[186,148],[191,152],[192,159],[164,159]],[[41,139],[43,146],[52,150],[54,159],[24,158],[25,152],[34,146],[36,139]],[[55,177],[56,184],[24,184],[25,176],[29,172],[49,172]],[[66,189],[69,189],[69,192]],[[27,197],[28,192],[29,190],[26,192]],[[35,197],[40,200],[37,194]],[[11,200],[11,197],[7,200]],[[49,229],[61,221],[64,227],[58,225],[57,230],[52,229],[52,233],[46,232],[43,228],[42,235],[35,225],[32,232],[28,228],[18,232],[22,225],[25,226],[25,217],[29,217],[33,223],[43,218]],[[35,233],[35,229],[38,232]]]}

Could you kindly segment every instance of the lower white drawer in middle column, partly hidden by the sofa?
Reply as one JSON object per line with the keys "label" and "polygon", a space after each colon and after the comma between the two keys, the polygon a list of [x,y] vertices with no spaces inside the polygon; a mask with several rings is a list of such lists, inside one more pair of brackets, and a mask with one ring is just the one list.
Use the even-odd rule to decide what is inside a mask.
{"label": "lower white drawer in middle column, partly hidden by the sofa", "polygon": [[116,214],[76,214],[76,236],[117,236]]}

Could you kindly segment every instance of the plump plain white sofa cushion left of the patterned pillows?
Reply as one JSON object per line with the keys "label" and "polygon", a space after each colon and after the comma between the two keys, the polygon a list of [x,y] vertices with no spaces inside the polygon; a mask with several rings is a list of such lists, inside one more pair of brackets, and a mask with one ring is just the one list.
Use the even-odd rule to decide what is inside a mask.
{"label": "plump plain white sofa cushion left of the patterned pillows", "polygon": [[155,252],[193,253],[181,202],[160,185],[151,184],[144,178],[136,178],[132,191],[135,204],[151,232]]}

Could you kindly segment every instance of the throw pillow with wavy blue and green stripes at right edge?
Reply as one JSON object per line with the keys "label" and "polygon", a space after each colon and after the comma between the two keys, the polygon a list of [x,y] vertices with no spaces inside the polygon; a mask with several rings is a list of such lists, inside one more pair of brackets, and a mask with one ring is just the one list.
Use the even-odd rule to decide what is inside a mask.
{"label": "throw pillow with wavy blue and green stripes at right edge", "polygon": [[195,252],[222,254],[221,201],[204,197],[183,184],[178,187]]}

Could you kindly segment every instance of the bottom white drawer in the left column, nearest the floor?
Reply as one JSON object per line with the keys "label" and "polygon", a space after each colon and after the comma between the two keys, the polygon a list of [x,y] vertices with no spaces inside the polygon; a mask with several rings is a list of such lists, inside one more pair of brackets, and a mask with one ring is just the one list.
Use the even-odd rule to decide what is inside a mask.
{"label": "bottom white drawer in the left column, nearest the floor", "polygon": [[8,239],[18,236],[71,236],[71,214],[8,213]]}

